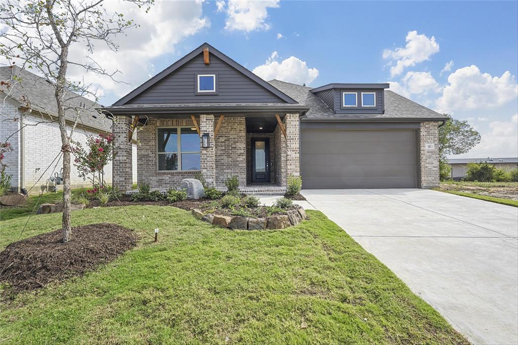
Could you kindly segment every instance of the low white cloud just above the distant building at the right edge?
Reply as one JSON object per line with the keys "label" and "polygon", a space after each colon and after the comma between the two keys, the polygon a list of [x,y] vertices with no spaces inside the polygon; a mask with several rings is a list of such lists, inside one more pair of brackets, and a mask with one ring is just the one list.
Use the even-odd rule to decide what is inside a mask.
{"label": "low white cloud just above the distant building at the right edge", "polygon": [[518,121],[518,114],[514,114],[510,121],[490,122],[490,131],[481,133],[480,143],[468,153],[455,157],[518,156],[518,126],[516,126],[516,121]]}

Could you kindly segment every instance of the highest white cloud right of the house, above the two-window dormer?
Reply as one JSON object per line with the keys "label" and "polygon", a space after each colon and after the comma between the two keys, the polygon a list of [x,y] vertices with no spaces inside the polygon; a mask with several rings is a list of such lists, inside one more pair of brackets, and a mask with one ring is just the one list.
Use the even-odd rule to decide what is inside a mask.
{"label": "highest white cloud right of the house, above the two-window dormer", "polygon": [[426,35],[419,35],[417,31],[410,31],[405,38],[407,45],[394,50],[385,49],[383,51],[384,59],[396,60],[396,65],[391,67],[391,76],[401,74],[403,70],[416,63],[430,59],[430,56],[439,51],[439,44],[435,41],[435,37],[428,38]]}

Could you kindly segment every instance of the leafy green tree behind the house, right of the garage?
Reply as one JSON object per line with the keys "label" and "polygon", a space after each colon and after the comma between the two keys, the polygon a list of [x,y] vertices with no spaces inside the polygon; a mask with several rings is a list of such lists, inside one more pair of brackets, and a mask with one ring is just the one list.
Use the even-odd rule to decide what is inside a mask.
{"label": "leafy green tree behind the house, right of the garage", "polygon": [[480,134],[468,121],[456,120],[450,114],[444,125],[439,127],[439,167],[441,179],[449,176],[451,168],[446,156],[467,153],[480,142]]}

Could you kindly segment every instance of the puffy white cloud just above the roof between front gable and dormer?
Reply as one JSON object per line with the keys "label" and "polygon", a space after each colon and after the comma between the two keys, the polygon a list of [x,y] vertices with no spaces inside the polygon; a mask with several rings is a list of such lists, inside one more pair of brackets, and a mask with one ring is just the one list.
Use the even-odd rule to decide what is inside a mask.
{"label": "puffy white cloud just above the roof between front gable and dormer", "polygon": [[264,80],[278,79],[292,82],[295,84],[309,84],[319,76],[319,70],[308,68],[305,61],[295,56],[290,56],[286,60],[277,61],[278,53],[271,53],[264,65],[255,67],[252,72]]}

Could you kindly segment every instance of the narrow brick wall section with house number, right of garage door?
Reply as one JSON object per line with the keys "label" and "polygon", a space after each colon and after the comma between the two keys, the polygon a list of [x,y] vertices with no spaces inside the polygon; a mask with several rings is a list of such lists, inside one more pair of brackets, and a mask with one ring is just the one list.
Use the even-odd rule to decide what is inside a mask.
{"label": "narrow brick wall section with house number, right of garage door", "polygon": [[421,188],[439,185],[439,126],[440,122],[421,122],[419,156]]}

